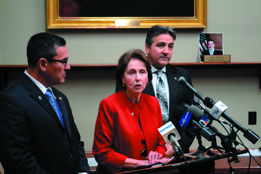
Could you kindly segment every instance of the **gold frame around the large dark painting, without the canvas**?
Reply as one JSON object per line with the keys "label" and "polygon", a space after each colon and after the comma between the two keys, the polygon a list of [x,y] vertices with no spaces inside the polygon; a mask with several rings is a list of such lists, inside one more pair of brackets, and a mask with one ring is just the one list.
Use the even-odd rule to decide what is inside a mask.
{"label": "gold frame around the large dark painting, without the canvas", "polygon": [[47,29],[207,28],[207,0],[194,0],[194,17],[59,17],[59,0],[46,0]]}

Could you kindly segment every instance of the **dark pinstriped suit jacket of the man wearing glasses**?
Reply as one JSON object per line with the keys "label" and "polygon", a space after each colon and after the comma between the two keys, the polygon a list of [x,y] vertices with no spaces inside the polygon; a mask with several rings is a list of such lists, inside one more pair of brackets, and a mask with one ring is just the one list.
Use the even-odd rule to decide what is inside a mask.
{"label": "dark pinstriped suit jacket of the man wearing glasses", "polygon": [[6,174],[90,173],[68,99],[52,90],[65,129],[46,96],[27,75],[1,92],[0,161]]}

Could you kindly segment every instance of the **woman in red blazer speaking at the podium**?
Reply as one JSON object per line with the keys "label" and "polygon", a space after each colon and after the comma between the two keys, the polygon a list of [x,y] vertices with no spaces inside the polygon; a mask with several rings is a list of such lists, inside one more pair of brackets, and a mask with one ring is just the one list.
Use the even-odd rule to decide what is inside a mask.
{"label": "woman in red blazer speaking at the podium", "polygon": [[135,166],[166,162],[165,141],[158,132],[162,115],[158,99],[142,93],[152,80],[142,50],[124,53],[116,80],[125,89],[103,99],[95,125],[92,153],[97,173],[118,173]]}

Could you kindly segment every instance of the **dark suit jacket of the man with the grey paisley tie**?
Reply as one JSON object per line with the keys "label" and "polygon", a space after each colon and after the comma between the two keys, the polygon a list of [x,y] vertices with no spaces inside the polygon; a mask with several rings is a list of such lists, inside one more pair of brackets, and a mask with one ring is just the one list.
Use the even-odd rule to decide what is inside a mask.
{"label": "dark suit jacket of the man with the grey paisley tie", "polygon": [[[166,65],[166,75],[169,84],[169,121],[174,124],[181,136],[181,139],[178,142],[181,145],[183,152],[189,153],[189,147],[193,143],[196,136],[195,130],[193,130],[192,128],[187,128],[185,131],[184,129],[181,129],[181,127],[178,125],[179,120],[173,117],[172,111],[175,106],[179,106],[183,102],[189,105],[192,104],[194,94],[189,91],[188,88],[178,82],[178,79],[183,76],[192,86],[191,77],[188,70],[176,67],[171,64]],[[119,84],[116,84],[116,91],[119,89],[122,89],[122,87],[120,87]],[[149,83],[149,85],[145,87],[143,92],[155,97],[152,83]]]}

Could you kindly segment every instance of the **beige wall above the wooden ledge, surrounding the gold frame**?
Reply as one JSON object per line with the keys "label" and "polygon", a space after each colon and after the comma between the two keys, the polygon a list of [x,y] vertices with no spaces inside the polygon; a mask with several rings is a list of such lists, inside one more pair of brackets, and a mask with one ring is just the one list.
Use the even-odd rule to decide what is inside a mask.
{"label": "beige wall above the wooden ledge, surrounding the gold frame", "polygon": [[[232,62],[260,61],[259,0],[209,0],[207,29],[177,29],[171,62],[199,62],[199,33],[224,33],[224,54]],[[39,32],[51,32],[67,41],[71,64],[116,64],[130,48],[144,50],[148,29],[46,29],[46,2],[0,1],[0,64],[27,64],[26,44]]]}

